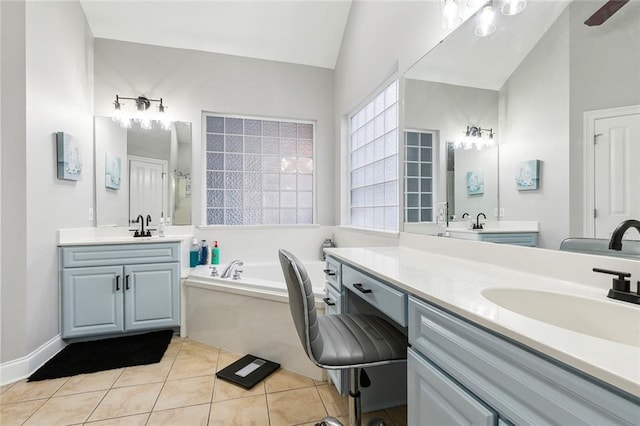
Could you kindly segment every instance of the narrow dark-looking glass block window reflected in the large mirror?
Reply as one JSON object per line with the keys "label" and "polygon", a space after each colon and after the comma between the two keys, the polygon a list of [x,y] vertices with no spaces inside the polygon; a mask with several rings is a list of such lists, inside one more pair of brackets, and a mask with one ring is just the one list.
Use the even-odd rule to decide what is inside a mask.
{"label": "narrow dark-looking glass block window reflected in the large mirror", "polygon": [[433,147],[433,133],[404,133],[405,222],[433,222]]}

